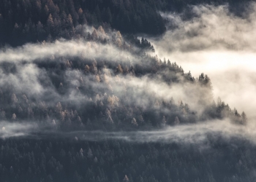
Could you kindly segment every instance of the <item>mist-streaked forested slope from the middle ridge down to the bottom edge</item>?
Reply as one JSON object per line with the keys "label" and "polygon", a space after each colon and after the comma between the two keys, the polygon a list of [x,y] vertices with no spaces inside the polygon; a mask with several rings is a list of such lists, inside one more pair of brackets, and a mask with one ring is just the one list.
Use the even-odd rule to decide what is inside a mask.
{"label": "mist-streaked forested slope from the middle ridge down to the bottom edge", "polygon": [[[206,130],[206,139],[192,134],[190,145],[173,141],[184,124],[227,118],[246,124],[244,112],[214,102],[206,74],[195,78],[160,60],[146,39],[102,26],[86,30],[86,38],[1,52],[1,181],[255,179],[247,175],[255,166],[252,151],[245,153],[240,139],[229,146]],[[180,100],[183,94],[192,106]],[[157,136],[168,127],[171,141]]]}

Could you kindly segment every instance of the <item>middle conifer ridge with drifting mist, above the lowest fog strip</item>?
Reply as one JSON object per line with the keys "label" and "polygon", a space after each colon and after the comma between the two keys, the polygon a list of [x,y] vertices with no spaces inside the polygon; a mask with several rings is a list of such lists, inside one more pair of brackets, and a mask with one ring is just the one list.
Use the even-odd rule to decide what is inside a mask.
{"label": "middle conifer ridge with drifting mist, above the lowest fog strip", "polygon": [[[108,36],[102,26],[98,30],[93,28],[86,40],[77,40],[80,44],[73,41],[73,50],[84,44],[88,48],[83,50],[85,53],[89,50],[100,51],[100,46],[112,47],[123,52],[119,54],[120,60],[113,61],[108,56],[89,59],[86,55],[70,57],[54,53],[49,55],[50,58],[45,55],[45,58],[34,58],[32,62],[26,61],[26,56],[22,63],[2,60],[1,77],[10,79],[0,90],[1,119],[53,122],[64,130],[159,128],[165,124],[195,123],[225,117],[246,124],[244,113],[238,114],[236,109],[231,110],[221,100],[214,102],[211,79],[207,75],[200,74],[195,79],[176,63],[151,56],[154,47],[146,39],[129,37],[128,41],[138,44],[138,47],[132,47],[120,32],[111,33],[112,37]],[[37,55],[40,49],[54,44],[57,43],[41,43],[33,52]],[[59,44],[68,46],[67,41],[60,41]],[[22,51],[28,49],[25,46]],[[56,52],[59,52],[58,49],[56,46]],[[132,57],[125,58],[128,54]],[[38,80],[26,83],[28,81],[23,74],[31,64],[33,67],[29,69],[40,71],[40,74],[36,76]],[[29,84],[29,87],[33,83],[44,89],[40,89],[39,93],[33,92],[33,89],[20,89],[20,83],[14,83],[17,80],[10,74],[21,83]],[[20,75],[21,79],[18,78]],[[149,80],[150,83],[146,83]],[[166,96],[159,95],[156,93],[159,90],[155,89],[161,90],[162,87],[171,91],[175,90],[172,87],[179,86],[183,87],[185,99],[193,98],[196,102],[194,108],[167,93],[164,93]]]}

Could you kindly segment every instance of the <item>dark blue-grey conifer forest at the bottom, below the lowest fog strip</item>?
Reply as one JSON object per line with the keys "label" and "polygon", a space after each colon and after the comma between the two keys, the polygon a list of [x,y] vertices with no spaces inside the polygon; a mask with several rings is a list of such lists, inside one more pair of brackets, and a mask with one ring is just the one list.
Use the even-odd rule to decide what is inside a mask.
{"label": "dark blue-grey conifer forest at the bottom, below the lowest fog strip", "polygon": [[255,181],[255,146],[219,142],[211,149],[178,143],[1,141],[1,181]]}

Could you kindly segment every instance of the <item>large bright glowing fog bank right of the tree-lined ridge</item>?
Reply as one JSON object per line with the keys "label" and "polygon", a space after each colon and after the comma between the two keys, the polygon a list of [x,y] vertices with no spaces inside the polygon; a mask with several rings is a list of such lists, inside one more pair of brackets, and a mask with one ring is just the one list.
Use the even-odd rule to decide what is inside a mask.
{"label": "large bright glowing fog bank right of the tree-lined ridge", "polygon": [[169,20],[167,32],[147,39],[159,58],[175,61],[195,77],[208,74],[215,99],[219,97],[255,119],[255,3],[249,4],[243,17],[233,15],[227,6],[191,9],[195,17],[189,20],[183,20],[184,14],[162,12]]}

